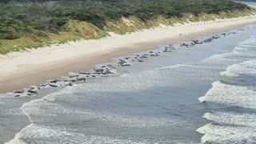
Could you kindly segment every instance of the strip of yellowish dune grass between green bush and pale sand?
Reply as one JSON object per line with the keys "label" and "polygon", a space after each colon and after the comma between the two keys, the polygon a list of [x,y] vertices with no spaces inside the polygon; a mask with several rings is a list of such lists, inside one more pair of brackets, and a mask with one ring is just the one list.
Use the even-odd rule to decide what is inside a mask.
{"label": "strip of yellowish dune grass between green bush and pale sand", "polygon": [[255,14],[256,10],[235,10],[227,12],[219,12],[218,14],[184,14],[182,18],[171,17],[164,18],[158,16],[154,20],[142,21],[142,19],[131,16],[129,18],[120,18],[116,21],[107,20],[104,30],[98,28],[89,22],[80,22],[70,20],[66,23],[65,31],[57,34],[45,32],[42,30],[34,30],[33,33],[26,37],[13,40],[0,40],[0,54],[8,54],[13,51],[23,51],[35,49],[52,44],[61,44],[81,39],[103,38],[108,32],[116,34],[126,34],[138,30],[154,28],[160,25],[174,26],[174,24],[183,24],[186,22],[212,21],[224,18],[239,18]]}

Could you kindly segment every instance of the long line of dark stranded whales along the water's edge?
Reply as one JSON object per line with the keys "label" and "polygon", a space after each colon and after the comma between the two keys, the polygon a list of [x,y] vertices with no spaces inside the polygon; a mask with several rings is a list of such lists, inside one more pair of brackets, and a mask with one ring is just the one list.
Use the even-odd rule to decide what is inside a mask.
{"label": "long line of dark stranded whales along the water's edge", "polygon": [[[244,30],[244,29],[238,29],[238,30]],[[197,40],[192,40],[190,42],[182,42],[179,46],[191,47],[195,45],[202,45],[202,44],[214,42],[214,40],[218,38],[226,37],[230,34],[237,34],[237,32],[231,31],[227,33],[217,34],[208,38],[201,38]],[[90,70],[90,72],[70,73],[68,76],[63,77],[60,80],[50,80],[45,84],[42,84],[39,86],[31,86],[30,89],[17,90],[7,94],[13,95],[14,97],[36,96],[38,95],[38,90],[42,90],[47,87],[73,86],[74,84],[86,82],[86,80],[89,78],[113,75],[117,67],[130,67],[133,62],[144,62],[146,58],[158,57],[160,56],[161,53],[170,53],[173,50],[176,50],[175,46],[166,45],[163,47],[162,50],[149,51],[144,54],[135,54],[133,56],[123,57],[123,58],[120,58],[118,62],[114,64],[106,64],[104,66],[94,68],[94,70]]]}

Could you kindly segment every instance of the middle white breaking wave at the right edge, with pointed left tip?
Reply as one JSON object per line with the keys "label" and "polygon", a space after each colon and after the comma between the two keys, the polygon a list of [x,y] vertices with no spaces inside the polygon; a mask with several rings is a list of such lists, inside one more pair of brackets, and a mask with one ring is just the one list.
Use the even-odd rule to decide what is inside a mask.
{"label": "middle white breaking wave at the right edge, with pointed left tip", "polygon": [[214,82],[212,88],[200,102],[226,103],[232,106],[243,106],[256,109],[256,91],[245,86],[231,86],[220,81]]}

